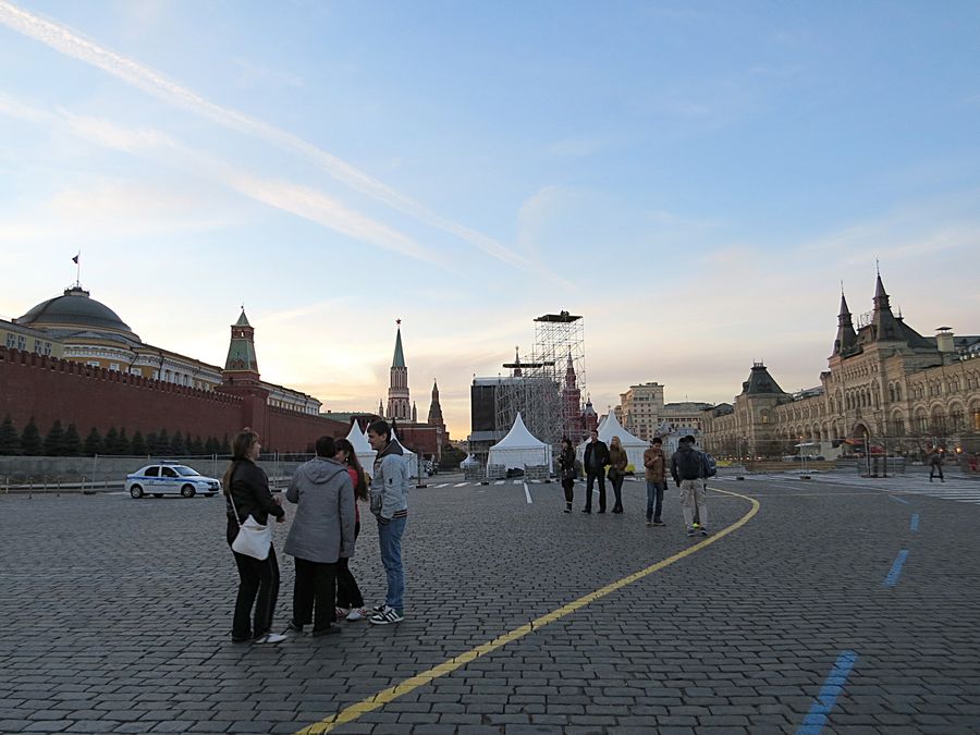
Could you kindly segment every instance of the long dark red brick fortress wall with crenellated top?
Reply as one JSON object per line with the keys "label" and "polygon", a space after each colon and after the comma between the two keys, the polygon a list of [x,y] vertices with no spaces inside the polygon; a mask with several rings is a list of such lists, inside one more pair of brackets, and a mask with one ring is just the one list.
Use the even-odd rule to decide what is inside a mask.
{"label": "long dark red brick fortress wall with crenellated top", "polygon": [[220,440],[254,421],[262,444],[278,452],[306,452],[318,437],[347,433],[346,424],[266,406],[264,393],[200,391],[0,346],[0,420],[9,414],[17,431],[33,417],[41,437],[60,419],[83,441],[93,427],[102,436],[115,427],[131,438],[166,429]]}

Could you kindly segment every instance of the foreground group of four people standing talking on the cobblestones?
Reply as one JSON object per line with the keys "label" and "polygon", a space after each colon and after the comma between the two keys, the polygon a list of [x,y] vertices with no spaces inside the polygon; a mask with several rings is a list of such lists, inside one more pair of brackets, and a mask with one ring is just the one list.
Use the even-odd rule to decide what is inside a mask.
{"label": "foreground group of four people standing talking on the cobblestones", "polygon": [[[285,498],[296,504],[283,548],[295,560],[293,615],[285,633],[272,632],[279,598],[279,563],[270,546],[259,560],[234,549],[238,593],[232,618],[232,640],[278,644],[287,635],[313,636],[341,632],[336,623],[367,618],[376,625],[404,620],[405,575],[402,536],[408,518],[409,471],[402,445],[387,421],[368,427],[368,441],[377,451],[370,482],[346,439],[320,437],[316,456],[293,474]],[[231,546],[248,516],[266,525],[270,516],[285,520],[282,499],[269,490],[269,478],[256,464],[261,452],[258,433],[245,429],[235,437],[233,458],[224,474],[228,543]],[[378,524],[378,544],[388,580],[383,603],[365,609],[364,597],[351,572],[355,541],[360,532],[358,501],[369,501]]]}

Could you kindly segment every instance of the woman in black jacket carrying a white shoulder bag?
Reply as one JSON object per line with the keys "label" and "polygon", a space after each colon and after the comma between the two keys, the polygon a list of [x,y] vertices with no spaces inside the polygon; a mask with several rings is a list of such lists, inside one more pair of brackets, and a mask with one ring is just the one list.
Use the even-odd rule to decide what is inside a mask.
{"label": "woman in black jacket carrying a white shoulder bag", "polygon": [[[255,464],[262,445],[259,436],[252,429],[243,429],[232,442],[232,461],[224,471],[225,531],[228,546],[234,543],[241,524],[253,516],[262,525],[269,516],[279,523],[285,520],[285,511],[280,499],[269,492],[269,478]],[[232,550],[235,566],[238,567],[238,595],[235,598],[235,613],[232,618],[232,640],[236,644],[250,640],[255,644],[278,644],[285,636],[271,633],[272,615],[279,599],[279,562],[275,548],[269,546],[269,555],[258,560]],[[255,614],[253,616],[253,607]],[[250,618],[250,620],[249,620]]]}

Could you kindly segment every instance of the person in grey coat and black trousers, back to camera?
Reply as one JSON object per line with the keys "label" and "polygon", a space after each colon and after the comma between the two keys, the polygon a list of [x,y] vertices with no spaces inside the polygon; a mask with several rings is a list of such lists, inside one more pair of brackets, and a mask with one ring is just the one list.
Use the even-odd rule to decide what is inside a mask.
{"label": "person in grey coat and black trousers, back to camera", "polygon": [[333,437],[317,439],[317,456],[293,474],[286,500],[296,515],[284,551],[296,562],[293,620],[289,630],[302,633],[313,623],[314,636],[340,633],[336,622],[338,560],[354,553],[354,493],[346,468],[334,460]]}

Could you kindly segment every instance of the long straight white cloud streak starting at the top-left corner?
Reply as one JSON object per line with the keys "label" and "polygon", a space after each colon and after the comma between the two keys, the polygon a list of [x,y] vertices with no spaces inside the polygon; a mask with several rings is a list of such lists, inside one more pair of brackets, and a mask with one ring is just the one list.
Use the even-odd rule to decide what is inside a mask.
{"label": "long straight white cloud streak starting at the top-left corner", "polygon": [[569,286],[563,278],[543,265],[515,253],[488,235],[429,210],[420,203],[318,146],[237,110],[216,105],[169,79],[163,74],[83,38],[65,26],[28,13],[5,0],[0,0],[0,23],[60,53],[101,69],[169,105],[203,115],[224,127],[259,137],[284,150],[302,155],[307,160],[317,163],[321,170],[338,181],[362,194],[382,201],[430,226],[455,235],[510,266],[525,272],[544,275],[554,283]]}

